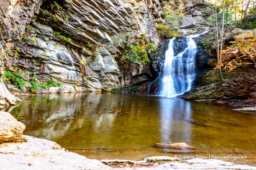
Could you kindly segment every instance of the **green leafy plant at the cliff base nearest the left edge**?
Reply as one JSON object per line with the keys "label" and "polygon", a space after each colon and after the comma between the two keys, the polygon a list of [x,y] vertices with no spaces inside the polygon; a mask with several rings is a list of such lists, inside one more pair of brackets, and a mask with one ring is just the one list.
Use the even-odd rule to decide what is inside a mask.
{"label": "green leafy plant at the cliff base nearest the left edge", "polygon": [[27,84],[22,77],[22,73],[18,73],[17,75],[14,75],[14,73],[10,71],[4,71],[4,82],[12,83],[18,88],[26,87],[26,84]]}

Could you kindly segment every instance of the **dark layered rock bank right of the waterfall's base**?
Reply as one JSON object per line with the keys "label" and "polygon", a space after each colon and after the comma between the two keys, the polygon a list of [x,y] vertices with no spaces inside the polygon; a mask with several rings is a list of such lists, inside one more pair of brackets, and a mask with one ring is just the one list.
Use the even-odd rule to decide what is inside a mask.
{"label": "dark layered rock bank right of the waterfall's base", "polygon": [[223,71],[226,83],[219,83],[218,70],[208,71],[191,91],[180,96],[182,99],[217,102],[233,107],[252,107],[256,105],[256,71],[250,68]]}

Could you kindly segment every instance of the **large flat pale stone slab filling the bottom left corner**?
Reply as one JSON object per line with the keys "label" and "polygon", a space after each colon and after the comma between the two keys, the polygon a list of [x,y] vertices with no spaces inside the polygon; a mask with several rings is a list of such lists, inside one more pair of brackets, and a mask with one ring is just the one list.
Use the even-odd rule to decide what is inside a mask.
{"label": "large flat pale stone slab filling the bottom left corner", "polygon": [[0,144],[1,168],[8,170],[110,170],[99,160],[65,151],[56,142],[25,136],[28,142]]}

